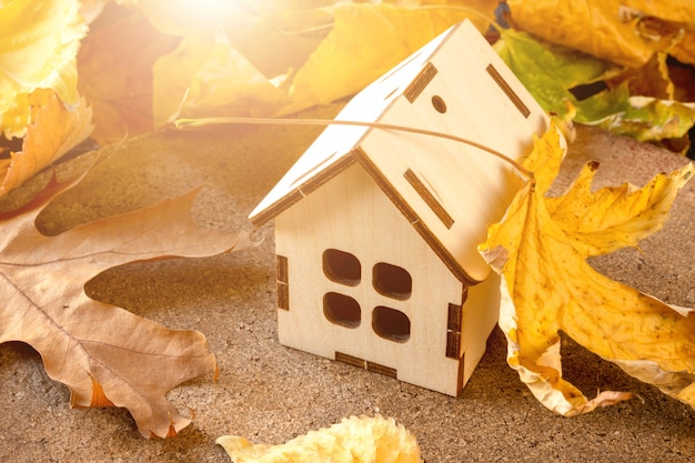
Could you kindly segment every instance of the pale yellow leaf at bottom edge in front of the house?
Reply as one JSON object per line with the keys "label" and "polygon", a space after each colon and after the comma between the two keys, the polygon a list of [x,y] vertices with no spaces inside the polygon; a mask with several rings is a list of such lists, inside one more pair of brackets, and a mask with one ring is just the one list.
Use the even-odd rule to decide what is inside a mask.
{"label": "pale yellow leaf at bottom edge in front of the house", "polygon": [[281,445],[218,439],[233,463],[422,463],[415,436],[393,419],[351,416]]}

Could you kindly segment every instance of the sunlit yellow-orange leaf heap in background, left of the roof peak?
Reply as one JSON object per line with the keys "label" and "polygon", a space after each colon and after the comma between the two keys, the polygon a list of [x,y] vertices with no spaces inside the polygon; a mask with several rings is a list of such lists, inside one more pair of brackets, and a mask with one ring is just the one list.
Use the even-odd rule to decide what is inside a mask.
{"label": "sunlit yellow-orange leaf heap in background, left of the roof peak", "polygon": [[[476,10],[490,18],[495,1],[457,3],[16,0],[0,7],[0,130],[68,132],[32,118],[48,90],[102,145],[179,118],[293,113],[359,92],[464,18],[487,27]],[[62,148],[90,131],[72,135]],[[6,163],[36,173],[57,148],[40,163]]]}

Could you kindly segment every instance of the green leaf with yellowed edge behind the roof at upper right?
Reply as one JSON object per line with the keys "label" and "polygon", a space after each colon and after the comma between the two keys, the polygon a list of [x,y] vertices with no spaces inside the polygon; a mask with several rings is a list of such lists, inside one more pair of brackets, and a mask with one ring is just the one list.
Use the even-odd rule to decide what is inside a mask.
{"label": "green leaf with yellowed edge behind the roof at upper right", "polygon": [[627,81],[578,100],[571,92],[575,87],[621,72],[608,61],[508,30],[502,31],[496,50],[538,103],[561,119],[641,141],[684,137],[695,124],[695,103],[634,95]]}

